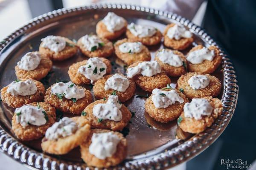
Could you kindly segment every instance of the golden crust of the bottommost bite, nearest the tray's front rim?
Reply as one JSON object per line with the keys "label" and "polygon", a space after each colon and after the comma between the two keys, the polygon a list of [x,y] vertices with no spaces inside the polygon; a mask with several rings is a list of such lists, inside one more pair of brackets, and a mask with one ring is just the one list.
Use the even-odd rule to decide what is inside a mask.
{"label": "golden crust of the bottommost bite, nearest the tray's front rim", "polygon": [[127,142],[123,137],[122,133],[113,132],[113,134],[117,135],[121,140],[116,146],[116,153],[114,153],[111,157],[107,157],[106,159],[98,159],[96,156],[90,154],[89,146],[91,144],[91,138],[93,133],[107,133],[111,132],[110,130],[102,130],[102,129],[93,129],[91,130],[90,136],[87,138],[87,141],[80,145],[81,147],[81,158],[86,162],[88,166],[93,167],[111,167],[121,163],[125,157],[127,156]]}

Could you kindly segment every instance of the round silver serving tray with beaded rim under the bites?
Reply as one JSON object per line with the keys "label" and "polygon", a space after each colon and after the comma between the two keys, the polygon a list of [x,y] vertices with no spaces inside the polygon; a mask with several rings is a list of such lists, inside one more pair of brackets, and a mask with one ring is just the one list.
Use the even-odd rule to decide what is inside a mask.
{"label": "round silver serving tray with beaded rim under the bites", "polygon": [[[227,127],[236,108],[238,85],[234,67],[224,50],[202,28],[177,14],[140,6],[116,4],[63,8],[43,14],[0,42],[0,88],[16,79],[14,67],[17,61],[27,52],[38,50],[41,38],[53,34],[78,40],[84,34],[95,33],[96,23],[108,11],[125,17],[129,23],[151,25],[160,31],[163,31],[168,23],[180,23],[195,34],[193,45],[215,45],[221,49],[222,66],[215,71],[214,75],[223,84],[222,93],[218,98],[222,100],[224,109],[221,116],[204,132],[186,136],[184,140],[176,139],[177,121],[167,124],[155,122],[144,111],[145,98],[140,99],[134,96],[125,103],[131,111],[136,111],[136,114],[126,128],[130,131],[126,136],[128,157],[115,169],[165,169],[192,159],[209,147]],[[152,59],[159,48],[163,48],[163,45],[150,47]],[[186,54],[187,51],[182,52]],[[69,65],[83,59],[86,57],[79,53],[63,62],[54,62],[52,68],[54,74],[49,79],[50,84],[56,79],[68,80]],[[122,62],[116,60],[115,56],[110,59],[118,63],[113,66],[113,72],[124,71]],[[176,81],[177,79],[172,79],[173,87]],[[89,86],[85,87],[90,89]],[[137,93],[145,94],[140,89],[137,89]],[[13,111],[14,109],[9,108],[3,102],[0,103],[0,150],[3,153],[20,163],[38,169],[81,170],[89,168],[81,160],[79,148],[64,156],[54,156],[42,153],[41,139],[30,142],[18,141],[11,128]],[[90,168],[93,169],[93,167]]]}

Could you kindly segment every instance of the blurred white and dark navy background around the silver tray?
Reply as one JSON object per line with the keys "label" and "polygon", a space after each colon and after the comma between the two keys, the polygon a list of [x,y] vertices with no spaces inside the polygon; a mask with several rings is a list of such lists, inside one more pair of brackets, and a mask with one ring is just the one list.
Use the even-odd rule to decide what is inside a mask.
{"label": "blurred white and dark navy background around the silver tray", "polygon": [[[221,159],[242,159],[256,170],[255,0],[0,0],[0,40],[33,17],[58,8],[128,3],[177,13],[203,27],[230,54],[239,79],[239,100],[224,133],[203,153],[172,168],[221,170]],[[0,153],[0,170],[28,170]]]}

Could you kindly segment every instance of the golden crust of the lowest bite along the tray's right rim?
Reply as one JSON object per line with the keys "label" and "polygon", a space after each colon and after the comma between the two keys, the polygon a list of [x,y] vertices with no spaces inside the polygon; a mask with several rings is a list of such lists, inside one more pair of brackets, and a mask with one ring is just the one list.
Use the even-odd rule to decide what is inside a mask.
{"label": "golden crust of the lowest bite along the tray's right rim", "polygon": [[200,120],[196,120],[194,118],[186,118],[184,116],[184,111],[181,113],[180,118],[181,122],[178,123],[180,128],[189,133],[200,133],[203,132],[207,127],[210,127],[215,119],[222,113],[222,104],[221,100],[218,98],[212,97],[203,97],[207,99],[207,101],[212,106],[212,114],[210,116],[204,116]]}

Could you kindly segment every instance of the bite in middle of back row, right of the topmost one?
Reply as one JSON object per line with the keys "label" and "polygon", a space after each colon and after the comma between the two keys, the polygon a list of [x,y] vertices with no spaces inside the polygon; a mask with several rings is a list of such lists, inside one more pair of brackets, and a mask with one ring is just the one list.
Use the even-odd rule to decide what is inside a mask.
{"label": "bite in middle of back row, right of the topmost one", "polygon": [[129,40],[142,42],[144,45],[157,45],[162,33],[152,26],[131,23],[127,26],[126,36]]}

